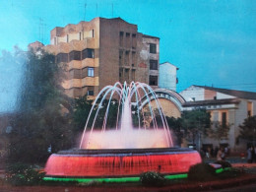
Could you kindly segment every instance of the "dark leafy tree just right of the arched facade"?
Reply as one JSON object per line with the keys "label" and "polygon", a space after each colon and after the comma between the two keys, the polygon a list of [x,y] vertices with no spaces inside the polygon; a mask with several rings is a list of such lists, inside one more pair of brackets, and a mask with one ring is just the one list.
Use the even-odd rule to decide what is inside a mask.
{"label": "dark leafy tree just right of the arched facade", "polygon": [[207,136],[207,130],[211,126],[211,115],[206,109],[193,109],[183,111],[181,114],[182,126],[185,136],[196,144],[196,140],[201,145],[201,136]]}

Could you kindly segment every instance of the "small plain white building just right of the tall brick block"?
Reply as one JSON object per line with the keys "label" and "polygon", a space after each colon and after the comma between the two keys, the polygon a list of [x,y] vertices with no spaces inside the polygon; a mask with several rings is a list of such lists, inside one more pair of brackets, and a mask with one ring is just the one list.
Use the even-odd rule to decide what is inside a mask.
{"label": "small plain white building just right of the tall brick block", "polygon": [[160,89],[176,91],[178,68],[169,62],[160,63]]}

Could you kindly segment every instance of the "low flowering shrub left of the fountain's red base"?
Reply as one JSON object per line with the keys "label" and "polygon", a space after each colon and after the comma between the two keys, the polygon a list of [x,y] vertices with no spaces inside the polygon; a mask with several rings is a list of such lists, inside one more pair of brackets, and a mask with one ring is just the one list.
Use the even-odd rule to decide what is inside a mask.
{"label": "low flowering shrub left of the fountain's red base", "polygon": [[35,170],[31,165],[23,163],[11,164],[6,170],[6,180],[12,185],[39,184],[44,175],[44,172]]}

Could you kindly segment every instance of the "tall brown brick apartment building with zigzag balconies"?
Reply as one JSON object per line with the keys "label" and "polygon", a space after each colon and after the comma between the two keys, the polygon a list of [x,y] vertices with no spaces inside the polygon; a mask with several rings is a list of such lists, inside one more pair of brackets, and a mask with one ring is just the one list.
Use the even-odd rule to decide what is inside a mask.
{"label": "tall brown brick apartment building with zigzag balconies", "polygon": [[67,96],[96,96],[115,82],[144,82],[159,86],[160,38],[138,32],[120,18],[56,27],[48,52],[66,66],[62,86]]}

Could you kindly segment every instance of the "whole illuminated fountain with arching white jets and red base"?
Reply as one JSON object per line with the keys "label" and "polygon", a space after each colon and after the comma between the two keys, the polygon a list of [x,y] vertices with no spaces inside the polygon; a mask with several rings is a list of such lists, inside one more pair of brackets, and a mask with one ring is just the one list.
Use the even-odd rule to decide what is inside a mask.
{"label": "whole illuminated fountain with arching white jets and red base", "polygon": [[[115,126],[109,128],[113,105],[116,115],[110,120]],[[138,177],[146,171],[173,175],[186,173],[199,162],[196,151],[173,147],[160,101],[150,86],[116,83],[96,96],[80,148],[51,155],[45,178]]]}

